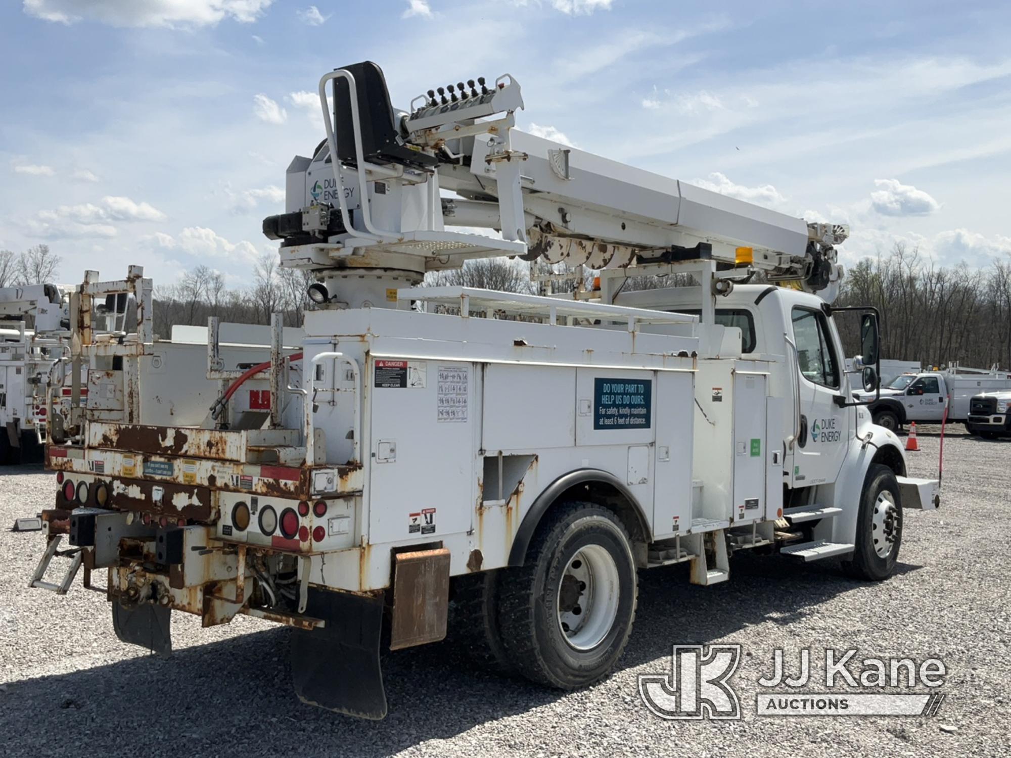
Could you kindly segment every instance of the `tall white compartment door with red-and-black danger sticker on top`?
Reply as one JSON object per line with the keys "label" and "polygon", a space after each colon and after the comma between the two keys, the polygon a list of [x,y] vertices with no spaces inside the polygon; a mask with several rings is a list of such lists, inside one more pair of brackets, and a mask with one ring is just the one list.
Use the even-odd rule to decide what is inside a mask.
{"label": "tall white compartment door with red-and-black danger sticker on top", "polygon": [[476,370],[466,361],[368,362],[372,545],[471,525]]}

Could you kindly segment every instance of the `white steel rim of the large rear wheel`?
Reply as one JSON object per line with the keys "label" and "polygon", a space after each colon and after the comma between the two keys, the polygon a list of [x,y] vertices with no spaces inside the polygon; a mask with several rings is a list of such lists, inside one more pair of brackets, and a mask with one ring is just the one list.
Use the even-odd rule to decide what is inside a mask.
{"label": "white steel rim of the large rear wheel", "polygon": [[618,618],[621,579],[618,564],[605,548],[580,548],[565,566],[558,585],[558,626],[576,650],[591,650]]}

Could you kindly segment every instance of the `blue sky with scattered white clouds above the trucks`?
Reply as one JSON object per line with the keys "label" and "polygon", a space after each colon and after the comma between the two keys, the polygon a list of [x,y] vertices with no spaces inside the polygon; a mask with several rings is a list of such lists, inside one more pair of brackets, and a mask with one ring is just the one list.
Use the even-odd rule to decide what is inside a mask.
{"label": "blue sky with scattered white clouds above the trucks", "polygon": [[[319,76],[365,59],[394,104],[510,73],[521,128],[809,220],[844,260],[1011,256],[1006,2],[7,0],[0,248],[64,281],[139,263],[249,282]],[[12,63],[11,63],[12,62]]]}

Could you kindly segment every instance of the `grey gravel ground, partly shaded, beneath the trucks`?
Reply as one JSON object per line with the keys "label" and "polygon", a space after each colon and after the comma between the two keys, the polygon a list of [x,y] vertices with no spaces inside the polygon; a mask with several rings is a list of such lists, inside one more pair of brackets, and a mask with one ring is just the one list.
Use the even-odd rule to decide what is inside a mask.
{"label": "grey gravel ground, partly shaded, beneath the trucks", "polygon": [[[920,442],[912,473],[933,476],[938,438],[923,428]],[[0,532],[0,752],[1006,756],[1011,548],[997,525],[1011,511],[1009,456],[1011,442],[945,440],[942,509],[906,511],[888,582],[753,556],[735,557],[730,581],[709,588],[688,584],[683,566],[644,572],[632,640],[610,679],[563,694],[475,672],[448,644],[400,651],[384,661],[390,714],[380,723],[300,705],[288,633],[267,623],[241,617],[202,630],[175,614],[167,661],[120,644],[104,597],[80,580],[63,598],[25,587],[42,550],[37,533]],[[45,507],[54,488],[37,468],[5,469],[0,525]],[[669,671],[678,643],[744,646],[734,676],[743,721],[667,722],[646,709],[637,675]],[[858,659],[939,657],[947,698],[934,718],[757,718],[755,682],[777,647],[788,665],[811,648],[816,672],[828,647],[857,648]]]}

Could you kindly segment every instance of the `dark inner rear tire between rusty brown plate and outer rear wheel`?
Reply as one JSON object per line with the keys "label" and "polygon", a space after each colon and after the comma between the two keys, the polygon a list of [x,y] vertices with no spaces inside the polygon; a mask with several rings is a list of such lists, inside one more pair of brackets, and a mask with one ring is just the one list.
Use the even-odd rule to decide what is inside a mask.
{"label": "dark inner rear tire between rusty brown plate and outer rear wheel", "polygon": [[496,674],[514,673],[498,625],[501,570],[456,577],[453,585],[453,641],[467,657]]}

